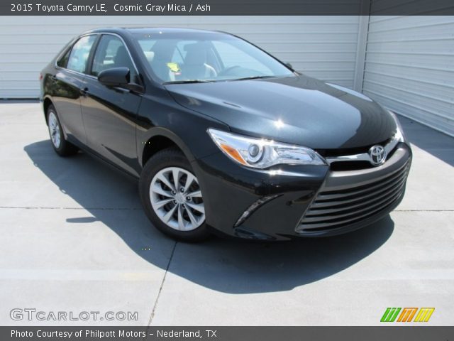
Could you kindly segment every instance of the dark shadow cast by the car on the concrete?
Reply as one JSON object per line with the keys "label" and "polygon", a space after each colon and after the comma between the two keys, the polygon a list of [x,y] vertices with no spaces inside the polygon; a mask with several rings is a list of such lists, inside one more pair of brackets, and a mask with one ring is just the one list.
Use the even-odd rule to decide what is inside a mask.
{"label": "dark shadow cast by the car on the concrete", "polygon": [[274,243],[214,237],[201,244],[175,243],[145,217],[133,178],[85,153],[60,158],[48,140],[29,144],[24,151],[62,193],[91,215],[68,218],[68,223],[100,221],[150,264],[215,291],[288,291],[319,281],[372,254],[394,229],[388,215],[367,228],[337,237]]}

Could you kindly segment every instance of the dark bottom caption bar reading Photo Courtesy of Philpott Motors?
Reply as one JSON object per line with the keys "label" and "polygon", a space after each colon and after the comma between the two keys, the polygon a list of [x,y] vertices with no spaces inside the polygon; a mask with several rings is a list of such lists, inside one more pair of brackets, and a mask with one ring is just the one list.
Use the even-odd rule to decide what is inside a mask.
{"label": "dark bottom caption bar reading Photo Courtesy of Philpott Motors", "polygon": [[0,327],[1,341],[446,341],[454,327]]}

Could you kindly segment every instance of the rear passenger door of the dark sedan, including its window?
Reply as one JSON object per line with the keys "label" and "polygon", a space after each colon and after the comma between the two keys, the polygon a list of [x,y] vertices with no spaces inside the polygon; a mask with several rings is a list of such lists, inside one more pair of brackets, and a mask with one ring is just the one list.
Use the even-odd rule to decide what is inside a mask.
{"label": "rear passenger door of the dark sedan, including its window", "polygon": [[52,76],[52,101],[70,141],[86,144],[86,134],[82,121],[81,88],[87,72],[89,55],[96,35],[79,38],[72,48],[57,61],[55,75]]}

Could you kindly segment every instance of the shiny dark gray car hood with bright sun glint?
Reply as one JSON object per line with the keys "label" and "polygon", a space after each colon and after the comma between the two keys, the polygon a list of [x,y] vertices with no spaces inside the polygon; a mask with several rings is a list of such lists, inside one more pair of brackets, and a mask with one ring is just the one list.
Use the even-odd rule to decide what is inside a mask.
{"label": "shiny dark gray car hood with bright sun glint", "polygon": [[397,128],[365,95],[304,75],[165,87],[182,106],[233,132],[314,149],[379,144]]}

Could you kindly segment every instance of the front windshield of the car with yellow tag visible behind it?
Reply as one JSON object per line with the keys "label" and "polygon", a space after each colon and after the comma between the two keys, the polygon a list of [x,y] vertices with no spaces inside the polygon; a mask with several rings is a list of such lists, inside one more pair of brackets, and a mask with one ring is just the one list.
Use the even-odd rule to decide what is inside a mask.
{"label": "front windshield of the car with yellow tag visible behind it", "polygon": [[162,83],[289,77],[292,70],[245,40],[224,33],[134,33]]}

